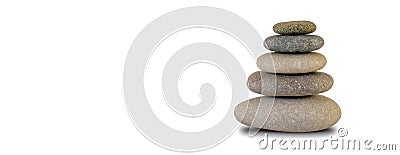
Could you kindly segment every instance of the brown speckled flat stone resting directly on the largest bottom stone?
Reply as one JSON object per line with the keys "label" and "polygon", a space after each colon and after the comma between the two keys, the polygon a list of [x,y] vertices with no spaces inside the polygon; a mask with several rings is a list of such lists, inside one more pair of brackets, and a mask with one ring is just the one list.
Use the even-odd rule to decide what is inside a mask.
{"label": "brown speckled flat stone resting directly on the largest bottom stone", "polygon": [[268,96],[307,96],[328,91],[333,78],[326,73],[272,74],[254,72],[247,79],[247,87],[258,94]]}

